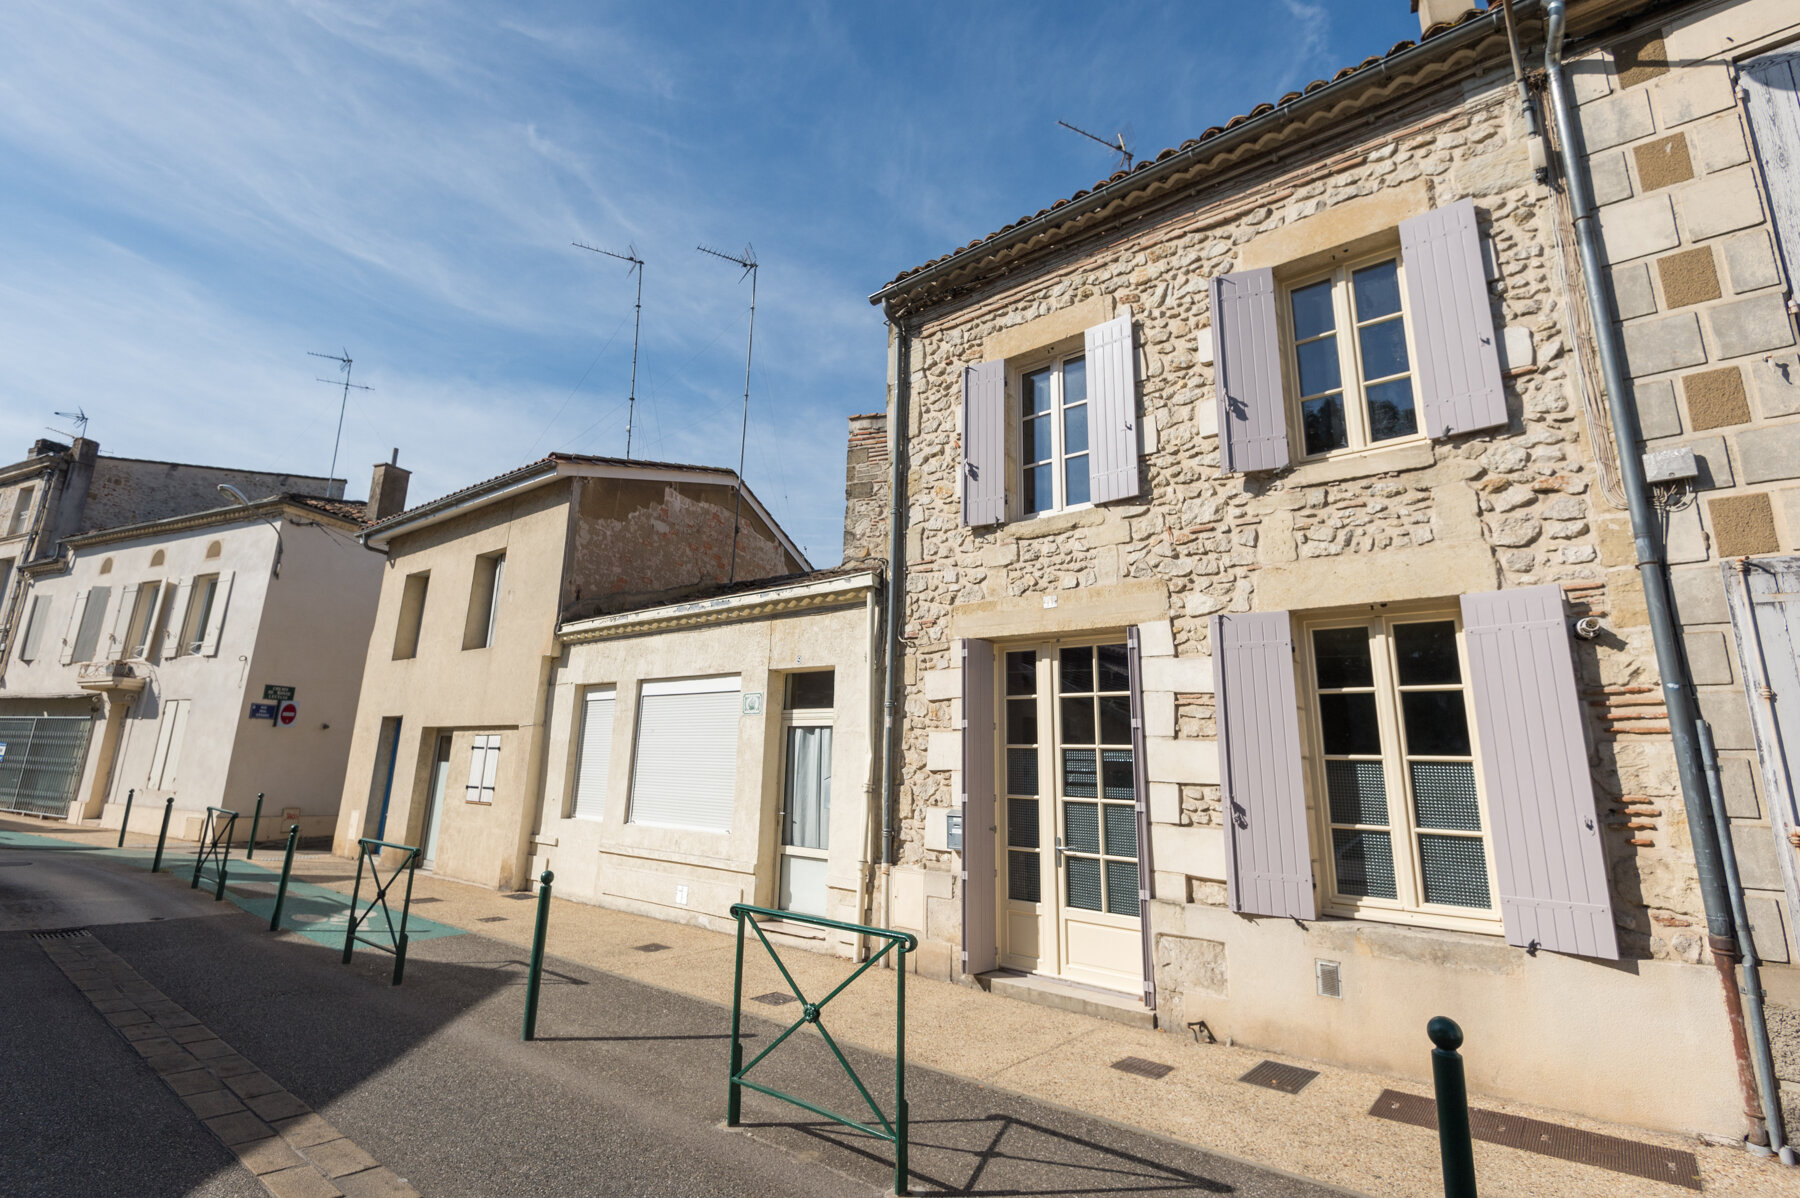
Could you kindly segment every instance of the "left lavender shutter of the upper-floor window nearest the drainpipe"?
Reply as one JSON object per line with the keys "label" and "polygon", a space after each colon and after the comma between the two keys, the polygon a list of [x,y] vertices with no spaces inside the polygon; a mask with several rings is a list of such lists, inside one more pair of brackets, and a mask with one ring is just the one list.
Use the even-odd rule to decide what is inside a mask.
{"label": "left lavender shutter of the upper-floor window nearest the drainpipe", "polygon": [[1274,272],[1219,275],[1211,295],[1219,460],[1235,471],[1280,469],[1289,455]]}

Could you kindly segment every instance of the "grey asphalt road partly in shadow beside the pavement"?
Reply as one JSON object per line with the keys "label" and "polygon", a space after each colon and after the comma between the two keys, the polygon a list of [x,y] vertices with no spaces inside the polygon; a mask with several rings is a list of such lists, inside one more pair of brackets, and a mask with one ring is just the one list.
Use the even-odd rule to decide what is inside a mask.
{"label": "grey asphalt road partly in shadow beside the pavement", "polygon": [[[351,966],[169,876],[0,851],[0,1193],[230,1196],[263,1187],[63,979],[34,930],[88,926],[169,998],[434,1198],[887,1193],[891,1148],[756,1094],[724,1128],[729,1011],[551,962],[520,1043],[524,955],[479,935]],[[787,1007],[790,1011],[790,1007]],[[790,1016],[792,1018],[792,1016]],[[749,1018],[749,1050],[785,1024]],[[860,1050],[869,1090],[891,1061]],[[769,1081],[857,1112],[812,1029]],[[835,1081],[833,1081],[835,1076]],[[913,1068],[914,1193],[1242,1194],[1325,1185]]]}

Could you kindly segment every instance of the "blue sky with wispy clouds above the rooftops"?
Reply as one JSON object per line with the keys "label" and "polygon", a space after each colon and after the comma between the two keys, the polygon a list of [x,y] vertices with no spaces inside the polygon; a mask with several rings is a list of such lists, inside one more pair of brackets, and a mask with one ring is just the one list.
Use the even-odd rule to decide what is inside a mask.
{"label": "blue sky with wispy clouds above the rooftops", "polygon": [[[103,451],[427,500],[549,450],[736,464],[839,558],[900,270],[1418,32],[1406,0],[0,7],[0,460]],[[322,369],[320,369],[322,367]]]}

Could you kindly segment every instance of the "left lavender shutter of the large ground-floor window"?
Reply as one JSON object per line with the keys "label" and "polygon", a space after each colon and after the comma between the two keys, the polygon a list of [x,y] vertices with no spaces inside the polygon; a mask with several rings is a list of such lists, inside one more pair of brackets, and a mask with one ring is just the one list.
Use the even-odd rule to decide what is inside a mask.
{"label": "left lavender shutter of the large ground-floor window", "polygon": [[1226,898],[1249,916],[1312,919],[1312,844],[1300,775],[1287,612],[1213,617]]}

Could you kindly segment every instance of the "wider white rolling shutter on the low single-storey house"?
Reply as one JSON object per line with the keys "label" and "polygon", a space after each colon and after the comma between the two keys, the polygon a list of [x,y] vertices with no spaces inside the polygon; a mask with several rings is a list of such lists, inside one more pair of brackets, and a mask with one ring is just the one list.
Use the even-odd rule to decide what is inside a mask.
{"label": "wider white rolling shutter on the low single-storey house", "polygon": [[646,682],[637,700],[634,824],[731,831],[740,680]]}

